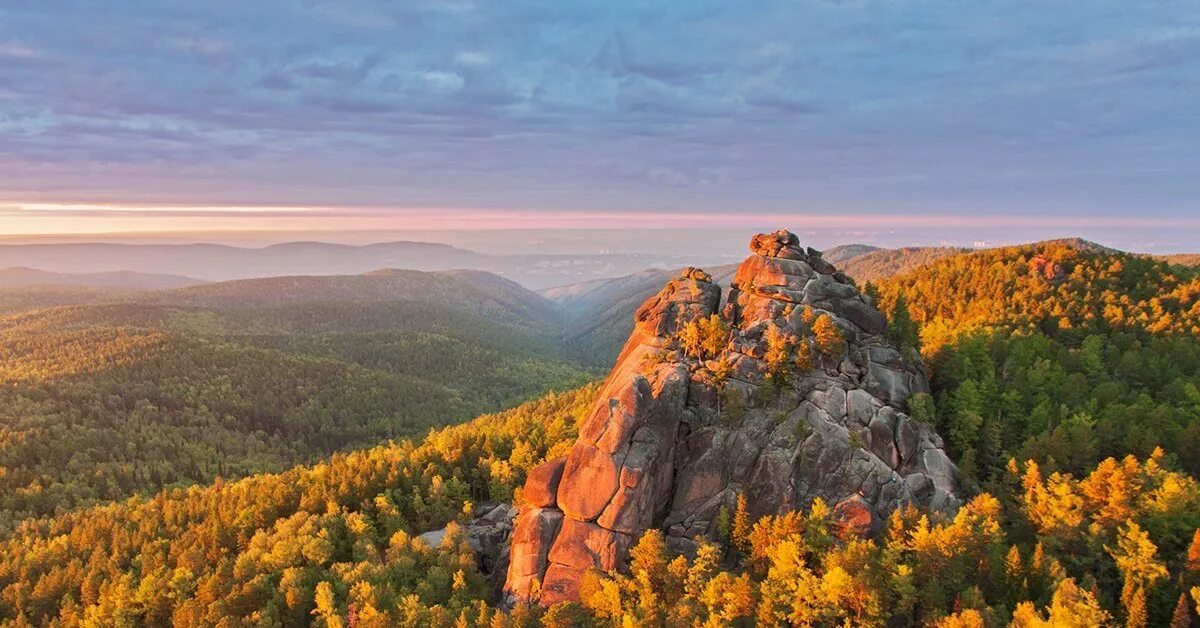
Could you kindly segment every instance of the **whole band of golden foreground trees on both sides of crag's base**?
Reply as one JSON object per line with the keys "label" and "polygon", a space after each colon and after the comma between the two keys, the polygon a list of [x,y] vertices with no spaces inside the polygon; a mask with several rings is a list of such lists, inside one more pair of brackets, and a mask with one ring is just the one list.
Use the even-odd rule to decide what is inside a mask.
{"label": "whole band of golden foreground trees on both sides of crag's base", "polygon": [[565,451],[595,387],[281,474],[29,521],[0,542],[0,620],[296,626],[1129,626],[1194,620],[1200,486],[1154,453],[1086,476],[1007,466],[952,519],[874,539],[820,501],[673,556],[644,534],[582,604],[494,608],[454,524]]}

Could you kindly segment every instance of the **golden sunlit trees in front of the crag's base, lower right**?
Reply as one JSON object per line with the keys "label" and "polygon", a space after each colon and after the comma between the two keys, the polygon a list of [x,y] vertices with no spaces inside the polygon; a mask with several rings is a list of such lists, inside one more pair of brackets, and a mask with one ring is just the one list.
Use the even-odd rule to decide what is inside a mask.
{"label": "golden sunlit trees in front of the crag's base, lower right", "polygon": [[691,558],[670,556],[652,531],[632,550],[629,575],[584,582],[576,612],[599,626],[1194,621],[1194,479],[1163,468],[1157,455],[1109,459],[1081,479],[1014,465],[1009,479],[1012,491],[979,495],[949,520],[898,510],[876,539],[846,536],[820,501],[806,513],[758,521],[738,510],[727,534]]}

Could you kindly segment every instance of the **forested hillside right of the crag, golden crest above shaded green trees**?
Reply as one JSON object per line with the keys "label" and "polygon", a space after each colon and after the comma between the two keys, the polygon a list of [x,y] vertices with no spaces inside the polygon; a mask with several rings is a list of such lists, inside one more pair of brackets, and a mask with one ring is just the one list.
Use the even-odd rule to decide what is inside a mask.
{"label": "forested hillside right of the crag, golden crest above shaded green trees", "polygon": [[1068,241],[955,256],[876,288],[899,336],[917,345],[919,327],[936,403],[917,411],[970,476],[995,480],[1009,455],[1078,476],[1156,447],[1200,473],[1195,274]]}

